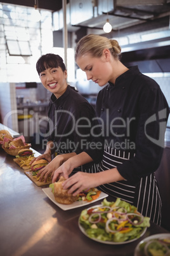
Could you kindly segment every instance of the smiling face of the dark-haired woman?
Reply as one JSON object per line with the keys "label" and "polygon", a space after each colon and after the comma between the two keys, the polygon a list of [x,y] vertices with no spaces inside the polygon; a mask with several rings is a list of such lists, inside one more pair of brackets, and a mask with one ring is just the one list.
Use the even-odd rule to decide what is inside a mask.
{"label": "smiling face of the dark-haired woman", "polygon": [[62,96],[67,89],[67,71],[58,68],[48,68],[39,74],[42,85],[55,94],[56,98]]}

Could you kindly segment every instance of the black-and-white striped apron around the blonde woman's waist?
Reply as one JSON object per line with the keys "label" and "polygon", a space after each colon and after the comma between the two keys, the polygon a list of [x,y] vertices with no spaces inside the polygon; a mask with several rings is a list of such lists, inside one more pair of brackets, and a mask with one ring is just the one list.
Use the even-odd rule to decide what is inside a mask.
{"label": "black-and-white striped apron around the blonde woman's waist", "polygon": [[[105,145],[98,172],[117,167],[133,157],[134,153],[115,150]],[[122,180],[100,185],[98,188],[110,196],[119,197],[133,204],[143,216],[150,217],[152,222],[160,225],[162,202],[154,173],[141,178],[136,185],[131,185],[128,180]]]}

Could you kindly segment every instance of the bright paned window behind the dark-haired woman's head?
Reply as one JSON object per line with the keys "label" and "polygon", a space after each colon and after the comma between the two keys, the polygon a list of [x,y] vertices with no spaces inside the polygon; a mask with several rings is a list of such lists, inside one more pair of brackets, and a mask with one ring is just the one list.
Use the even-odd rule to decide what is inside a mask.
{"label": "bright paned window behind the dark-haired woman's head", "polygon": [[0,3],[1,82],[39,82],[37,59],[53,52],[52,11],[41,10],[41,21],[34,22],[33,10]]}

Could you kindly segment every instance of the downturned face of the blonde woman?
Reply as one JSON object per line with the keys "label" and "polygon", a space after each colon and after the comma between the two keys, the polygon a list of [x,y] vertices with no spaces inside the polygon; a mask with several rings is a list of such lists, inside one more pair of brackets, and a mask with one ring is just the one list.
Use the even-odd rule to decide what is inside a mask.
{"label": "downturned face of the blonde woman", "polygon": [[112,65],[110,64],[109,50],[99,58],[92,57],[86,53],[77,57],[77,65],[82,71],[86,72],[88,80],[98,83],[99,86],[105,85],[112,78]]}

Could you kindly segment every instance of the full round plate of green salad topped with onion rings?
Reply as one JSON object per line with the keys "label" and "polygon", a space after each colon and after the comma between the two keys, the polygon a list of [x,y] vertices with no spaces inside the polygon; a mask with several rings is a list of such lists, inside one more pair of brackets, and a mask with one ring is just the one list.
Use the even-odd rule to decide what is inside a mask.
{"label": "full round plate of green salad topped with onion rings", "polygon": [[131,243],[141,238],[150,227],[150,218],[143,217],[135,206],[117,198],[82,210],[79,228],[88,238],[109,245]]}

